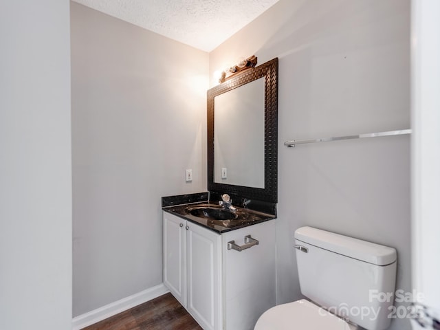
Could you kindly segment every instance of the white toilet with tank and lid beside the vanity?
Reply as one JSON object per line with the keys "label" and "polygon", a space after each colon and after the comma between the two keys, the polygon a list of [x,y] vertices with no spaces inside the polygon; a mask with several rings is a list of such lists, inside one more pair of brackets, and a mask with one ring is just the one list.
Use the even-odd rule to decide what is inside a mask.
{"label": "white toilet with tank and lid beside the vanity", "polygon": [[311,227],[295,232],[301,299],[272,307],[254,330],[383,330],[394,302],[397,252]]}

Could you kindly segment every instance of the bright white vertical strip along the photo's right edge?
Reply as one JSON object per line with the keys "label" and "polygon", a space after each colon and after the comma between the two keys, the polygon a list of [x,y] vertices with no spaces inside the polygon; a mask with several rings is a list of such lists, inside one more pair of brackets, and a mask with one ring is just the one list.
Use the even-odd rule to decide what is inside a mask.
{"label": "bright white vertical strip along the photo's right edge", "polygon": [[417,303],[428,306],[430,316],[437,319],[440,317],[439,17],[439,1],[412,1],[412,287],[421,293]]}

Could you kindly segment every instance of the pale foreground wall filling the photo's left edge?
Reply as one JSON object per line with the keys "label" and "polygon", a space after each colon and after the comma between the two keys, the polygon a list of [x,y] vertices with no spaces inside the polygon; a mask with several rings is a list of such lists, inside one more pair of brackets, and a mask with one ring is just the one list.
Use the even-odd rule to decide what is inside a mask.
{"label": "pale foreground wall filling the photo's left edge", "polygon": [[67,330],[69,1],[1,1],[0,41],[0,329]]}

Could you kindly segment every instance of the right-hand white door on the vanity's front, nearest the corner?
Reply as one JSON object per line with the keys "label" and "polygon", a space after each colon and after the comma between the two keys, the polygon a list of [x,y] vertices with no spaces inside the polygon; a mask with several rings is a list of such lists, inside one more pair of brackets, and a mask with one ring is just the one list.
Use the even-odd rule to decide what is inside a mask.
{"label": "right-hand white door on the vanity's front, nearest the corner", "polygon": [[188,222],[187,309],[204,330],[221,329],[221,236]]}

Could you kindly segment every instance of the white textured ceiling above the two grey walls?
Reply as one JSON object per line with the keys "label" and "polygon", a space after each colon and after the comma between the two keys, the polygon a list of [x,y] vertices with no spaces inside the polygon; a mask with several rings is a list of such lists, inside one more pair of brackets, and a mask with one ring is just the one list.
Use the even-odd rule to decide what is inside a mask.
{"label": "white textured ceiling above the two grey walls", "polygon": [[278,0],[74,0],[210,52]]}

